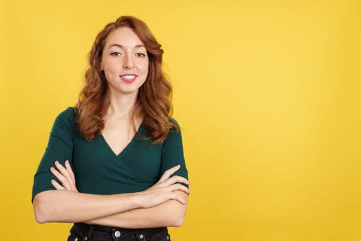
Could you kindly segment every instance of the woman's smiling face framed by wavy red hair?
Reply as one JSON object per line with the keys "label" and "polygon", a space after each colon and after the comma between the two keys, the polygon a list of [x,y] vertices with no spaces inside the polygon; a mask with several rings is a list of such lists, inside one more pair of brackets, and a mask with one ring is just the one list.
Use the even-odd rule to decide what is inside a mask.
{"label": "woman's smiling face framed by wavy red hair", "polygon": [[105,39],[101,68],[110,94],[137,94],[148,75],[149,58],[131,28],[118,28]]}

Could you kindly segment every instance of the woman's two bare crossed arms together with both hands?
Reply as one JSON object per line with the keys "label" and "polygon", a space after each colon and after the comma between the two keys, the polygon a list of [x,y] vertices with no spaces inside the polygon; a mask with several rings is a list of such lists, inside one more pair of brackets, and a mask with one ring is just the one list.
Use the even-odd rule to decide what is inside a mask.
{"label": "woman's two bare crossed arms together with both hands", "polygon": [[79,193],[69,162],[55,163],[50,171],[61,182],[52,180],[56,190],[36,194],[33,200],[36,221],[87,222],[112,227],[179,227],[184,221],[189,189],[186,178],[172,176],[179,165],[164,172],[145,191],[113,195]]}

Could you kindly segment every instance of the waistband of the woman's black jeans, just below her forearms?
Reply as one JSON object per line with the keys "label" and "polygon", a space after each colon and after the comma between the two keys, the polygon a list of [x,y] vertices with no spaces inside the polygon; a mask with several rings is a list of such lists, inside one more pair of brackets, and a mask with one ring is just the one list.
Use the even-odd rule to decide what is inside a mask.
{"label": "waistband of the woman's black jeans, just below her forearms", "polygon": [[101,225],[92,225],[92,224],[86,224],[84,222],[76,222],[74,223],[74,227],[78,230],[82,231],[88,231],[91,227],[94,231],[100,231],[104,233],[111,233],[114,231],[114,229],[117,229],[122,232],[142,232],[142,233],[158,233],[158,232],[166,232],[168,233],[168,229],[166,227],[160,227],[160,228],[151,228],[151,229],[124,229],[124,228],[118,228],[118,227],[108,227],[108,226],[101,226]]}

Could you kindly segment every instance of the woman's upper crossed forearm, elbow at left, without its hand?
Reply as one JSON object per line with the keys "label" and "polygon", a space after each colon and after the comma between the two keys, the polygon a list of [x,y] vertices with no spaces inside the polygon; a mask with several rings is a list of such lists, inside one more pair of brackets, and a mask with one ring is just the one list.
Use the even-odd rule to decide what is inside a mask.
{"label": "woman's upper crossed forearm, elbow at left, without its hand", "polygon": [[85,222],[142,207],[137,193],[93,195],[67,190],[38,193],[33,201],[37,222]]}

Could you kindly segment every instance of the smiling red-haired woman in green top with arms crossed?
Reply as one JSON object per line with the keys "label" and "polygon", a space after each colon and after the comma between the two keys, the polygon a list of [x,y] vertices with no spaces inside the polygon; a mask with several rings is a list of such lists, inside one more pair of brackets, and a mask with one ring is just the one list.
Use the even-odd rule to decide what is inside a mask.
{"label": "smiling red-haired woman in green top with arms crossed", "polygon": [[68,240],[169,240],[182,224],[189,182],[160,46],[134,17],[98,34],[34,176],[37,222],[74,222]]}

